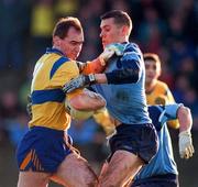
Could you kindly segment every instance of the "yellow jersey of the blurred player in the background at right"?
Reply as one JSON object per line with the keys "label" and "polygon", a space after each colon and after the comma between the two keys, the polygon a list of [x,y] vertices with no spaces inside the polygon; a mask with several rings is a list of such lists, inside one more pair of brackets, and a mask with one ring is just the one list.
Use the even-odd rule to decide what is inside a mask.
{"label": "yellow jersey of the blurred player in the background at right", "polygon": [[[147,101],[147,105],[175,103],[175,99],[174,99],[168,86],[161,80],[157,80],[154,89],[151,92],[146,92],[146,101]],[[179,128],[179,123],[177,120],[169,121],[168,125],[174,129]]]}

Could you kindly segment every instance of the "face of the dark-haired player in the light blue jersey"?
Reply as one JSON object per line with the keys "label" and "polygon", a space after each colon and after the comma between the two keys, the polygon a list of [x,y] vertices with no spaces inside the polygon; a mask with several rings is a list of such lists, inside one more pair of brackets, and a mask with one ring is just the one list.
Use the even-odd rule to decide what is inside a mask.
{"label": "face of the dark-haired player in the light blue jersey", "polygon": [[114,24],[114,19],[106,19],[100,23],[100,37],[103,48],[111,43],[119,43],[122,36],[122,28]]}

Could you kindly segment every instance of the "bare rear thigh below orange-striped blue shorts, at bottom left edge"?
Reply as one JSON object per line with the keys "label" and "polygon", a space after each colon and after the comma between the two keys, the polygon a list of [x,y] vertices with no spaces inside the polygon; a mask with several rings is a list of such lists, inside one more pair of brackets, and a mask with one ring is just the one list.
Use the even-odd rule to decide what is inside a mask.
{"label": "bare rear thigh below orange-striped blue shorts, at bottom left edge", "polygon": [[18,187],[46,187],[51,174],[41,172],[20,172]]}

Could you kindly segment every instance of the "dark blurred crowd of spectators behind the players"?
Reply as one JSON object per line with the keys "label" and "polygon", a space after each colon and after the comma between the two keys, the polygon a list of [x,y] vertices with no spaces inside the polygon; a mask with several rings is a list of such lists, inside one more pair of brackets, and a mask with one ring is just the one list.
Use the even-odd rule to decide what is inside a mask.
{"label": "dark blurred crowd of spectators behind the players", "polygon": [[[25,107],[33,67],[46,47],[52,46],[56,21],[67,15],[79,18],[85,44],[78,61],[86,62],[102,52],[100,15],[112,9],[131,15],[131,41],[138,43],[143,53],[160,55],[161,80],[169,86],[177,102],[191,109],[195,148],[198,145],[197,0],[0,0],[0,187],[16,184],[14,152],[28,130]],[[73,121],[69,133],[81,154],[98,170],[108,154],[100,125],[94,119]],[[180,186],[196,187],[197,153],[190,161],[182,161],[178,131],[170,130],[170,133]]]}

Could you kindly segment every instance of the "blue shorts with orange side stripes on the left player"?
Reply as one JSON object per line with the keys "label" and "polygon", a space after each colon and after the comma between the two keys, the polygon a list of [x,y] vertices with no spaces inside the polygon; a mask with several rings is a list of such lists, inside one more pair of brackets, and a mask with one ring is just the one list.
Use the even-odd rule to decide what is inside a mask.
{"label": "blue shorts with orange side stripes on the left player", "polygon": [[16,150],[20,170],[55,173],[72,153],[72,140],[64,131],[34,127],[24,135]]}

